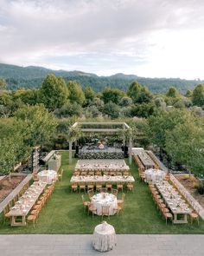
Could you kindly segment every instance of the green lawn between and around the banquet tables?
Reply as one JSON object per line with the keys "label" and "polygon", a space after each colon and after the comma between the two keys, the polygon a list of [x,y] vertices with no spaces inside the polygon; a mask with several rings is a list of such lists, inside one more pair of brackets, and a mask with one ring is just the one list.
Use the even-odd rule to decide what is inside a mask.
{"label": "green lawn between and around the banquet tables", "polygon": [[[71,193],[70,178],[73,173],[72,165],[68,165],[68,153],[62,153],[62,168],[64,169],[63,181],[58,181],[54,194],[43,207],[35,228],[29,226],[11,227],[7,222],[3,225],[0,220],[0,233],[92,233],[94,226],[101,222],[100,216],[87,216],[84,213],[80,194]],[[116,233],[204,233],[204,221],[200,225],[190,224],[166,226],[156,205],[151,199],[148,186],[138,179],[137,167],[131,165],[131,173],[136,179],[134,192],[126,193],[124,210],[119,217],[111,216],[107,220],[112,224]],[[119,194],[120,196],[120,194]]]}

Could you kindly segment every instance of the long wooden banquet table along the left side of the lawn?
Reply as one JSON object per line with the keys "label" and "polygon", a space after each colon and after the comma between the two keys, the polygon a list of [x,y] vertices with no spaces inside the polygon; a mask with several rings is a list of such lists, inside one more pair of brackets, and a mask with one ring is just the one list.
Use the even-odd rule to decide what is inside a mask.
{"label": "long wooden banquet table along the left side of the lawn", "polygon": [[[47,182],[35,181],[22,197],[16,201],[14,207],[10,208],[10,212],[7,213],[11,217],[11,226],[25,226],[26,216],[30,209],[35,205],[35,201],[46,187]],[[22,221],[16,221],[17,217],[22,217]]]}

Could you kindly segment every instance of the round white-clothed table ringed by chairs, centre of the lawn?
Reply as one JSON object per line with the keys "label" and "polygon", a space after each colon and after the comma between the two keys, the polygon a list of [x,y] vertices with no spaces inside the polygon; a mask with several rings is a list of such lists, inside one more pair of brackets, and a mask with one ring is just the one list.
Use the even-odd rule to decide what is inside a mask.
{"label": "round white-clothed table ringed by chairs, centre of the lawn", "polygon": [[118,208],[117,197],[114,194],[99,193],[92,196],[93,207],[97,208],[97,214],[102,214],[102,207],[110,207],[109,214],[114,215]]}

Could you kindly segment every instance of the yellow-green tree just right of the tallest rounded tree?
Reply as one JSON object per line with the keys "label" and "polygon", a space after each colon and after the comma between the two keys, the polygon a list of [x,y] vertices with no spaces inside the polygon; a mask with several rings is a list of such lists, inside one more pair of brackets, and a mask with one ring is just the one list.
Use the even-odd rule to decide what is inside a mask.
{"label": "yellow-green tree just right of the tallest rounded tree", "polygon": [[85,102],[85,94],[81,89],[80,83],[69,81],[67,88],[69,90],[69,101],[71,103],[77,102],[78,104],[82,105]]}

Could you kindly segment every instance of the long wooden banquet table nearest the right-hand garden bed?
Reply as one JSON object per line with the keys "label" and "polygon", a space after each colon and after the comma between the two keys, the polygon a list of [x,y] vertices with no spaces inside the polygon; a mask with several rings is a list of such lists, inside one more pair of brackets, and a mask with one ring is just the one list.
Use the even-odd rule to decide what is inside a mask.
{"label": "long wooden banquet table nearest the right-hand garden bed", "polygon": [[[175,188],[172,187],[168,181],[156,182],[156,187],[174,215],[173,223],[188,223],[187,215],[191,213],[192,210]],[[178,214],[181,214],[183,218],[178,220]]]}

